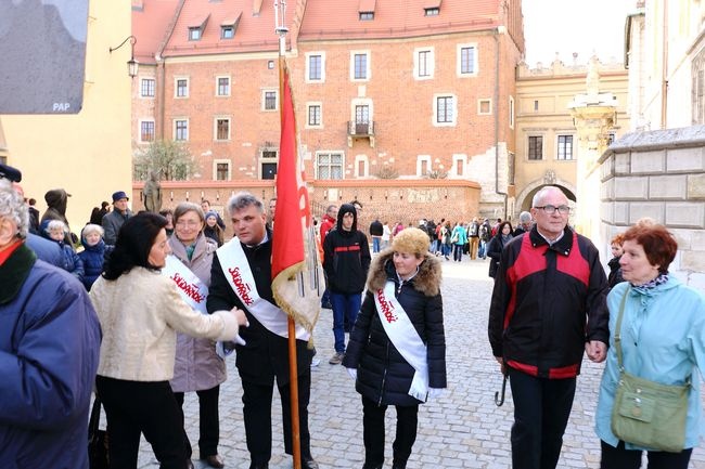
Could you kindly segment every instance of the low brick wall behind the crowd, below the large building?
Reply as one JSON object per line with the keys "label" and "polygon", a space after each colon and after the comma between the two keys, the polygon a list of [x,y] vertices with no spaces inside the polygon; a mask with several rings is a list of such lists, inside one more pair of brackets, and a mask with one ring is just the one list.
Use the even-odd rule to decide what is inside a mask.
{"label": "low brick wall behind the crowd, below the large building", "polygon": [[[332,186],[332,183],[335,186]],[[143,182],[132,185],[132,210],[144,209]],[[213,209],[225,214],[230,196],[248,191],[264,200],[274,196],[273,181],[162,181],[162,208],[175,208],[179,203],[208,199]],[[463,180],[336,180],[309,182],[312,213],[321,218],[329,205],[337,206],[359,200],[362,214],[358,226],[367,233],[376,218],[416,225],[421,219],[469,221],[478,213],[479,184]],[[228,230],[230,234],[230,229]]]}

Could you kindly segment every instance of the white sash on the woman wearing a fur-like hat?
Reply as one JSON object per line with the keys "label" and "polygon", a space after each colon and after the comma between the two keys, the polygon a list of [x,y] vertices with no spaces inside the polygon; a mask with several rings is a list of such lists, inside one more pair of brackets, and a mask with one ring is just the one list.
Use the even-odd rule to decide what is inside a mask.
{"label": "white sash on the woman wearing a fur-like hat", "polygon": [[403,360],[413,367],[415,373],[409,388],[409,395],[421,402],[426,402],[428,394],[428,362],[426,344],[423,343],[416,328],[403,311],[403,308],[394,295],[395,284],[387,281],[384,290],[374,294],[374,302],[384,331],[397,348]]}

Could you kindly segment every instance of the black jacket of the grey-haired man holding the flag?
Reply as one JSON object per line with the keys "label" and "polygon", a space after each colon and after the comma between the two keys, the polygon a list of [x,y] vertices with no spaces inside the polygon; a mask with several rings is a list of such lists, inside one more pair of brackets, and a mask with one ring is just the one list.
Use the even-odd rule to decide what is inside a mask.
{"label": "black jacket of the grey-haired man holding the flag", "polygon": [[[259,297],[277,304],[271,288],[271,232],[268,234],[269,240],[267,243],[254,248],[243,245],[243,250],[255,277]],[[230,243],[239,242],[238,238],[233,238]],[[218,310],[231,310],[233,307],[245,311],[249,322],[249,327],[241,327],[239,333],[246,344],[235,347],[235,365],[242,379],[258,385],[269,385],[272,376],[275,376],[278,385],[287,383],[287,339],[271,333],[247,311],[222,273],[220,260],[216,252],[210,268],[210,286],[208,287],[206,308],[208,313],[214,313]],[[310,373],[312,352],[308,350],[307,342],[296,340],[296,357],[298,376],[308,375]]]}

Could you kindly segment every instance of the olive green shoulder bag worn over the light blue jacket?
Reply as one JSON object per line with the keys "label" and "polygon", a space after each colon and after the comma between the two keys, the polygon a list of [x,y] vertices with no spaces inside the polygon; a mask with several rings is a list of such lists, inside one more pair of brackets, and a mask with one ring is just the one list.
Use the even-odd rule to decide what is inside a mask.
{"label": "olive green shoulder bag worn over the light blue jacket", "polygon": [[662,385],[627,373],[621,355],[621,317],[629,289],[619,307],[615,348],[619,382],[612,408],[612,432],[638,446],[680,453],[685,444],[685,418],[691,377],[685,385]]}

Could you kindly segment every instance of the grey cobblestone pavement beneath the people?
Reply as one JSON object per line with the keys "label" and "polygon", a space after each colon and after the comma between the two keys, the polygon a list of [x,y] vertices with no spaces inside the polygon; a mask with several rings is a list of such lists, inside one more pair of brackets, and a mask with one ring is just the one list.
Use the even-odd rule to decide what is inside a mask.
{"label": "grey cobblestone pavement beneath the people", "polygon": [[[512,399],[508,386],[502,407],[493,402],[501,375],[487,341],[487,312],[491,281],[487,261],[469,259],[444,262],[444,314],[447,340],[448,390],[436,402],[420,407],[419,435],[409,459],[409,469],[511,467],[510,429]],[[313,457],[323,468],[362,467],[362,404],[345,368],[329,365],[333,354],[332,314],[322,310],[315,339],[320,365],[312,368],[310,432]],[[242,389],[234,360],[229,360],[229,379],[220,391],[220,446],[226,467],[247,469],[249,459],[242,420]],[[587,361],[578,377],[578,390],[565,433],[559,468],[598,468],[599,440],[593,431],[594,407],[602,365]],[[188,393],[185,426],[197,459],[198,405]],[[395,412],[387,412],[386,468],[392,467]],[[284,454],[279,395],[272,408],[273,442],[270,468],[289,469]],[[143,440],[139,467],[157,467],[151,446]],[[644,464],[645,467],[645,464]],[[705,469],[705,450],[696,448],[691,468]]]}

